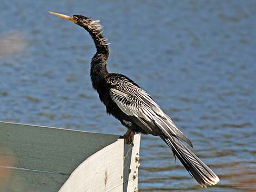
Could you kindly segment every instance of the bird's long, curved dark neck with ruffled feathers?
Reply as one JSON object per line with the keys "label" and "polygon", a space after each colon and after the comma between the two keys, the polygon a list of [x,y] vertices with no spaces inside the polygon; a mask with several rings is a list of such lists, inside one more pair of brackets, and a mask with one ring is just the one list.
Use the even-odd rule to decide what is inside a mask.
{"label": "bird's long, curved dark neck with ruffled feathers", "polygon": [[[99,22],[97,22],[96,24],[99,24]],[[101,87],[105,82],[105,78],[108,75],[107,59],[109,55],[107,40],[101,34],[102,26],[99,26],[86,28],[86,30],[92,36],[92,39],[97,49],[97,52],[92,58],[90,77],[93,83],[93,88],[96,89],[98,92],[101,90]]]}

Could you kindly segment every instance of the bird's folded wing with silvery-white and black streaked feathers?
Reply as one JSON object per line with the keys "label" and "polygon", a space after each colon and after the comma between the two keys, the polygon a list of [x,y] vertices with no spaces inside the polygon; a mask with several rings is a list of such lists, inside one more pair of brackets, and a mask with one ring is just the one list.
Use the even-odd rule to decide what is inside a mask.
{"label": "bird's folded wing with silvery-white and black streaked feathers", "polygon": [[176,135],[192,146],[191,141],[175,126],[159,105],[143,89],[131,82],[109,90],[114,103],[143,129],[153,135],[163,134],[167,138]]}

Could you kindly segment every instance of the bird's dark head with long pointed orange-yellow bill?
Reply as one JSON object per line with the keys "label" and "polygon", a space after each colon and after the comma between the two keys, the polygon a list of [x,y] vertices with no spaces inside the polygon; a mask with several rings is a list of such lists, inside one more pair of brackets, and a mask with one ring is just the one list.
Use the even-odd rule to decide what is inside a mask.
{"label": "bird's dark head with long pointed orange-yellow bill", "polygon": [[83,15],[68,16],[68,15],[63,15],[59,13],[54,13],[51,11],[49,11],[49,13],[56,15],[58,17],[64,18],[65,20],[72,21],[78,24],[78,26],[85,28],[89,32],[100,33],[103,28],[99,23],[100,20],[93,20],[92,18],[83,16]]}

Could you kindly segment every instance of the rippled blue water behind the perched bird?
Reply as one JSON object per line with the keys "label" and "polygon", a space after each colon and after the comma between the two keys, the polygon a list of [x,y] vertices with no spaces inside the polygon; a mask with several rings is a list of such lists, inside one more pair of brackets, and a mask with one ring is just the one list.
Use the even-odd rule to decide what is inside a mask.
{"label": "rippled blue water behind the perched bird", "polygon": [[[93,41],[48,10],[101,19],[109,71],[147,90],[220,176],[204,191],[256,191],[256,1],[2,1],[0,120],[121,135],[90,83]],[[143,135],[140,155],[140,191],[203,190],[161,139]]]}

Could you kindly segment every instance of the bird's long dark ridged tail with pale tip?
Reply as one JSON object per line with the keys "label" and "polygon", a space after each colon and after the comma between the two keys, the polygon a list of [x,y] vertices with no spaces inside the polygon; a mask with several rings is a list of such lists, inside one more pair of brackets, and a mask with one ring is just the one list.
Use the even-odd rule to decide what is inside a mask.
{"label": "bird's long dark ridged tail with pale tip", "polygon": [[205,165],[192,151],[190,151],[175,136],[170,138],[161,137],[163,141],[172,149],[174,156],[180,159],[190,175],[197,180],[201,187],[206,188],[206,183],[215,185],[220,181],[218,176]]}

